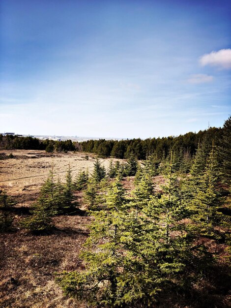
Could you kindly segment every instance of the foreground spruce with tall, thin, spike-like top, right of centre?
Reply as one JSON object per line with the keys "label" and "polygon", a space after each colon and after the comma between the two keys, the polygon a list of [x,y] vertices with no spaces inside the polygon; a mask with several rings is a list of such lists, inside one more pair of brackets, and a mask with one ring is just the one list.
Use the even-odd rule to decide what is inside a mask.
{"label": "foreground spruce with tall, thin, spike-like top, right of centre", "polygon": [[162,186],[163,194],[161,198],[150,198],[142,216],[145,228],[140,249],[153,275],[156,275],[159,288],[166,283],[182,283],[182,271],[192,256],[188,230],[181,222],[186,216],[185,206],[178,198],[178,183],[172,169],[171,153],[167,183]]}

